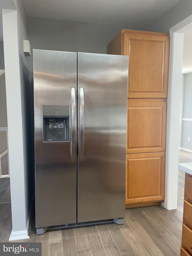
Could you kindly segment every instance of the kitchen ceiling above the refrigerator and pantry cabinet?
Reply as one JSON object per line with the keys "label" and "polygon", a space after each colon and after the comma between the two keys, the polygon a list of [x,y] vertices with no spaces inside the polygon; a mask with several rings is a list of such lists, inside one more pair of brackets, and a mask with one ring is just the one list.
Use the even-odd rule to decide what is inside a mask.
{"label": "kitchen ceiling above the refrigerator and pantry cabinet", "polygon": [[23,0],[28,16],[147,28],[181,0]]}

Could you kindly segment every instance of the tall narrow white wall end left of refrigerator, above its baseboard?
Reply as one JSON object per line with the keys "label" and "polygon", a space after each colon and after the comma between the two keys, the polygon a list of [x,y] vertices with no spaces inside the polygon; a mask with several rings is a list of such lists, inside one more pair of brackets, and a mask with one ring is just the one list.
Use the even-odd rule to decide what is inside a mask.
{"label": "tall narrow white wall end left of refrigerator, above its baseboard", "polygon": [[[9,130],[11,209],[13,230],[18,231],[26,228],[26,212],[17,11],[3,9],[2,14],[4,62],[6,69],[7,121]],[[15,43],[12,44],[12,42]]]}

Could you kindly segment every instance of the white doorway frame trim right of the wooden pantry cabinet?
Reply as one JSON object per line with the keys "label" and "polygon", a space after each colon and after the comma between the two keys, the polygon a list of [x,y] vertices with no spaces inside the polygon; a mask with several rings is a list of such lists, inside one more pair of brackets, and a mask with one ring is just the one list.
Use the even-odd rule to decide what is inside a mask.
{"label": "white doorway frame trim right of the wooden pantry cabinet", "polygon": [[[179,172],[178,174],[177,170],[178,162],[182,161],[182,153],[184,153],[182,151],[179,152],[178,150],[180,140],[179,133],[181,127],[181,125],[179,125],[181,123],[180,112],[182,112],[183,42],[184,33],[190,30],[192,30],[192,15],[170,29],[170,64],[167,99],[167,149],[164,201],[164,207],[168,210],[177,209],[177,201],[181,199],[178,199],[177,193],[178,195],[184,193],[180,187],[181,185],[184,186],[184,183],[181,182],[184,173]],[[184,122],[184,120],[182,120],[182,122]],[[184,134],[184,130],[182,131],[182,134]],[[179,184],[178,182],[181,183]]]}

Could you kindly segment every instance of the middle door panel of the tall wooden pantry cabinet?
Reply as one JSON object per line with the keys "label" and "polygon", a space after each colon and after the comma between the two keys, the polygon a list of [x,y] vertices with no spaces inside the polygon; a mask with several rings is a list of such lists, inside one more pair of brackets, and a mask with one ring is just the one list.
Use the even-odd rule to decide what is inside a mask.
{"label": "middle door panel of the tall wooden pantry cabinet", "polygon": [[164,152],[166,102],[128,102],[127,154]]}

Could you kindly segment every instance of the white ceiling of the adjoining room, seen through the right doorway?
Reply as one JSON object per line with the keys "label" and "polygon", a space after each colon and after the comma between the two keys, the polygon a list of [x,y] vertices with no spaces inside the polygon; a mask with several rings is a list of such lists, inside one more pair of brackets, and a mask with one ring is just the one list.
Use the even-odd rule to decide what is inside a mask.
{"label": "white ceiling of the adjoining room, seen through the right doorway", "polygon": [[191,29],[184,33],[183,39],[183,66],[182,73],[192,72],[192,25]]}

